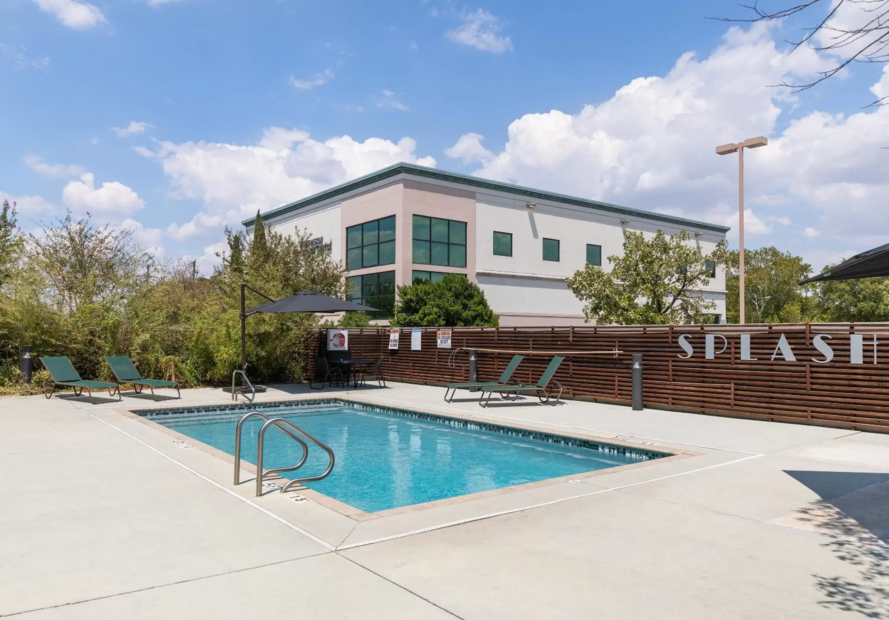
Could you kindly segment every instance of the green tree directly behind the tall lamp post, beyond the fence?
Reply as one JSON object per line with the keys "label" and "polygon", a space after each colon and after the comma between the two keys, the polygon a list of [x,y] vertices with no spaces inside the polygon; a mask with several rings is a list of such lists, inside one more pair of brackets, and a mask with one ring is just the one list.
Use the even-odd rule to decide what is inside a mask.
{"label": "green tree directly behind the tall lamp post, beyond the fence", "polygon": [[[797,282],[812,274],[803,258],[774,246],[744,251],[744,321],[749,323],[817,320],[813,287]],[[725,268],[725,308],[728,322],[740,319],[738,250],[729,252]]]}

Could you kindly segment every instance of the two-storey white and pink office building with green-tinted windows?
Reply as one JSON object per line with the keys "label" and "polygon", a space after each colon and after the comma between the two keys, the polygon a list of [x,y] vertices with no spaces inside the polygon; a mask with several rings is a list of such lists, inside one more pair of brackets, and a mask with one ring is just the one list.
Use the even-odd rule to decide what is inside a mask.
{"label": "two-storey white and pink office building with green-tinted windows", "polygon": [[[620,254],[625,230],[687,230],[705,252],[727,227],[397,163],[262,214],[283,234],[308,230],[348,267],[352,298],[391,308],[396,286],[465,274],[501,325],[577,325],[565,278]],[[252,233],[253,220],[245,220]],[[703,290],[725,321],[725,272]]]}

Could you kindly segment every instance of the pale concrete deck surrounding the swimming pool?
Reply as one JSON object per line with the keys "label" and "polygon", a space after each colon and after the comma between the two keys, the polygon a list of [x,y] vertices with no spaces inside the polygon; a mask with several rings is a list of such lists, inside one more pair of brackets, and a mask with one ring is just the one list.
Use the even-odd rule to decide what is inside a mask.
{"label": "pale concrete deck surrounding the swimming pool", "polygon": [[[0,616],[889,618],[889,435],[443,393],[258,400],[339,394],[687,456],[356,521],[232,487],[229,462],[118,410],[147,398],[4,397]],[[230,402],[182,396],[158,406]]]}

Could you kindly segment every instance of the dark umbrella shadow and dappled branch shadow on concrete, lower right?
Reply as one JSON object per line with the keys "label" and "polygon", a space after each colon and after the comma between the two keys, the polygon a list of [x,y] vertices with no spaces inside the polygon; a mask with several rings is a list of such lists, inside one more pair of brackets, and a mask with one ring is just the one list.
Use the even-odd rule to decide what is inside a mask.
{"label": "dark umbrella shadow and dappled branch shadow on concrete, lower right", "polygon": [[889,473],[785,471],[821,497],[794,515],[805,529],[827,538],[822,543],[859,576],[814,574],[825,608],[868,618],[889,618]]}

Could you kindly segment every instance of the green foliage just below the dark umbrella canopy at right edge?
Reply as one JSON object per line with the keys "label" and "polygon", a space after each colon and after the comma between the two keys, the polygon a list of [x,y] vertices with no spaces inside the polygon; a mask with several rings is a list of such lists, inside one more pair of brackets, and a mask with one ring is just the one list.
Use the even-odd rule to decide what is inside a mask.
{"label": "green foliage just below the dark umbrella canopy at right edge", "polygon": [[822,321],[889,321],[889,278],[819,282],[815,298]]}

